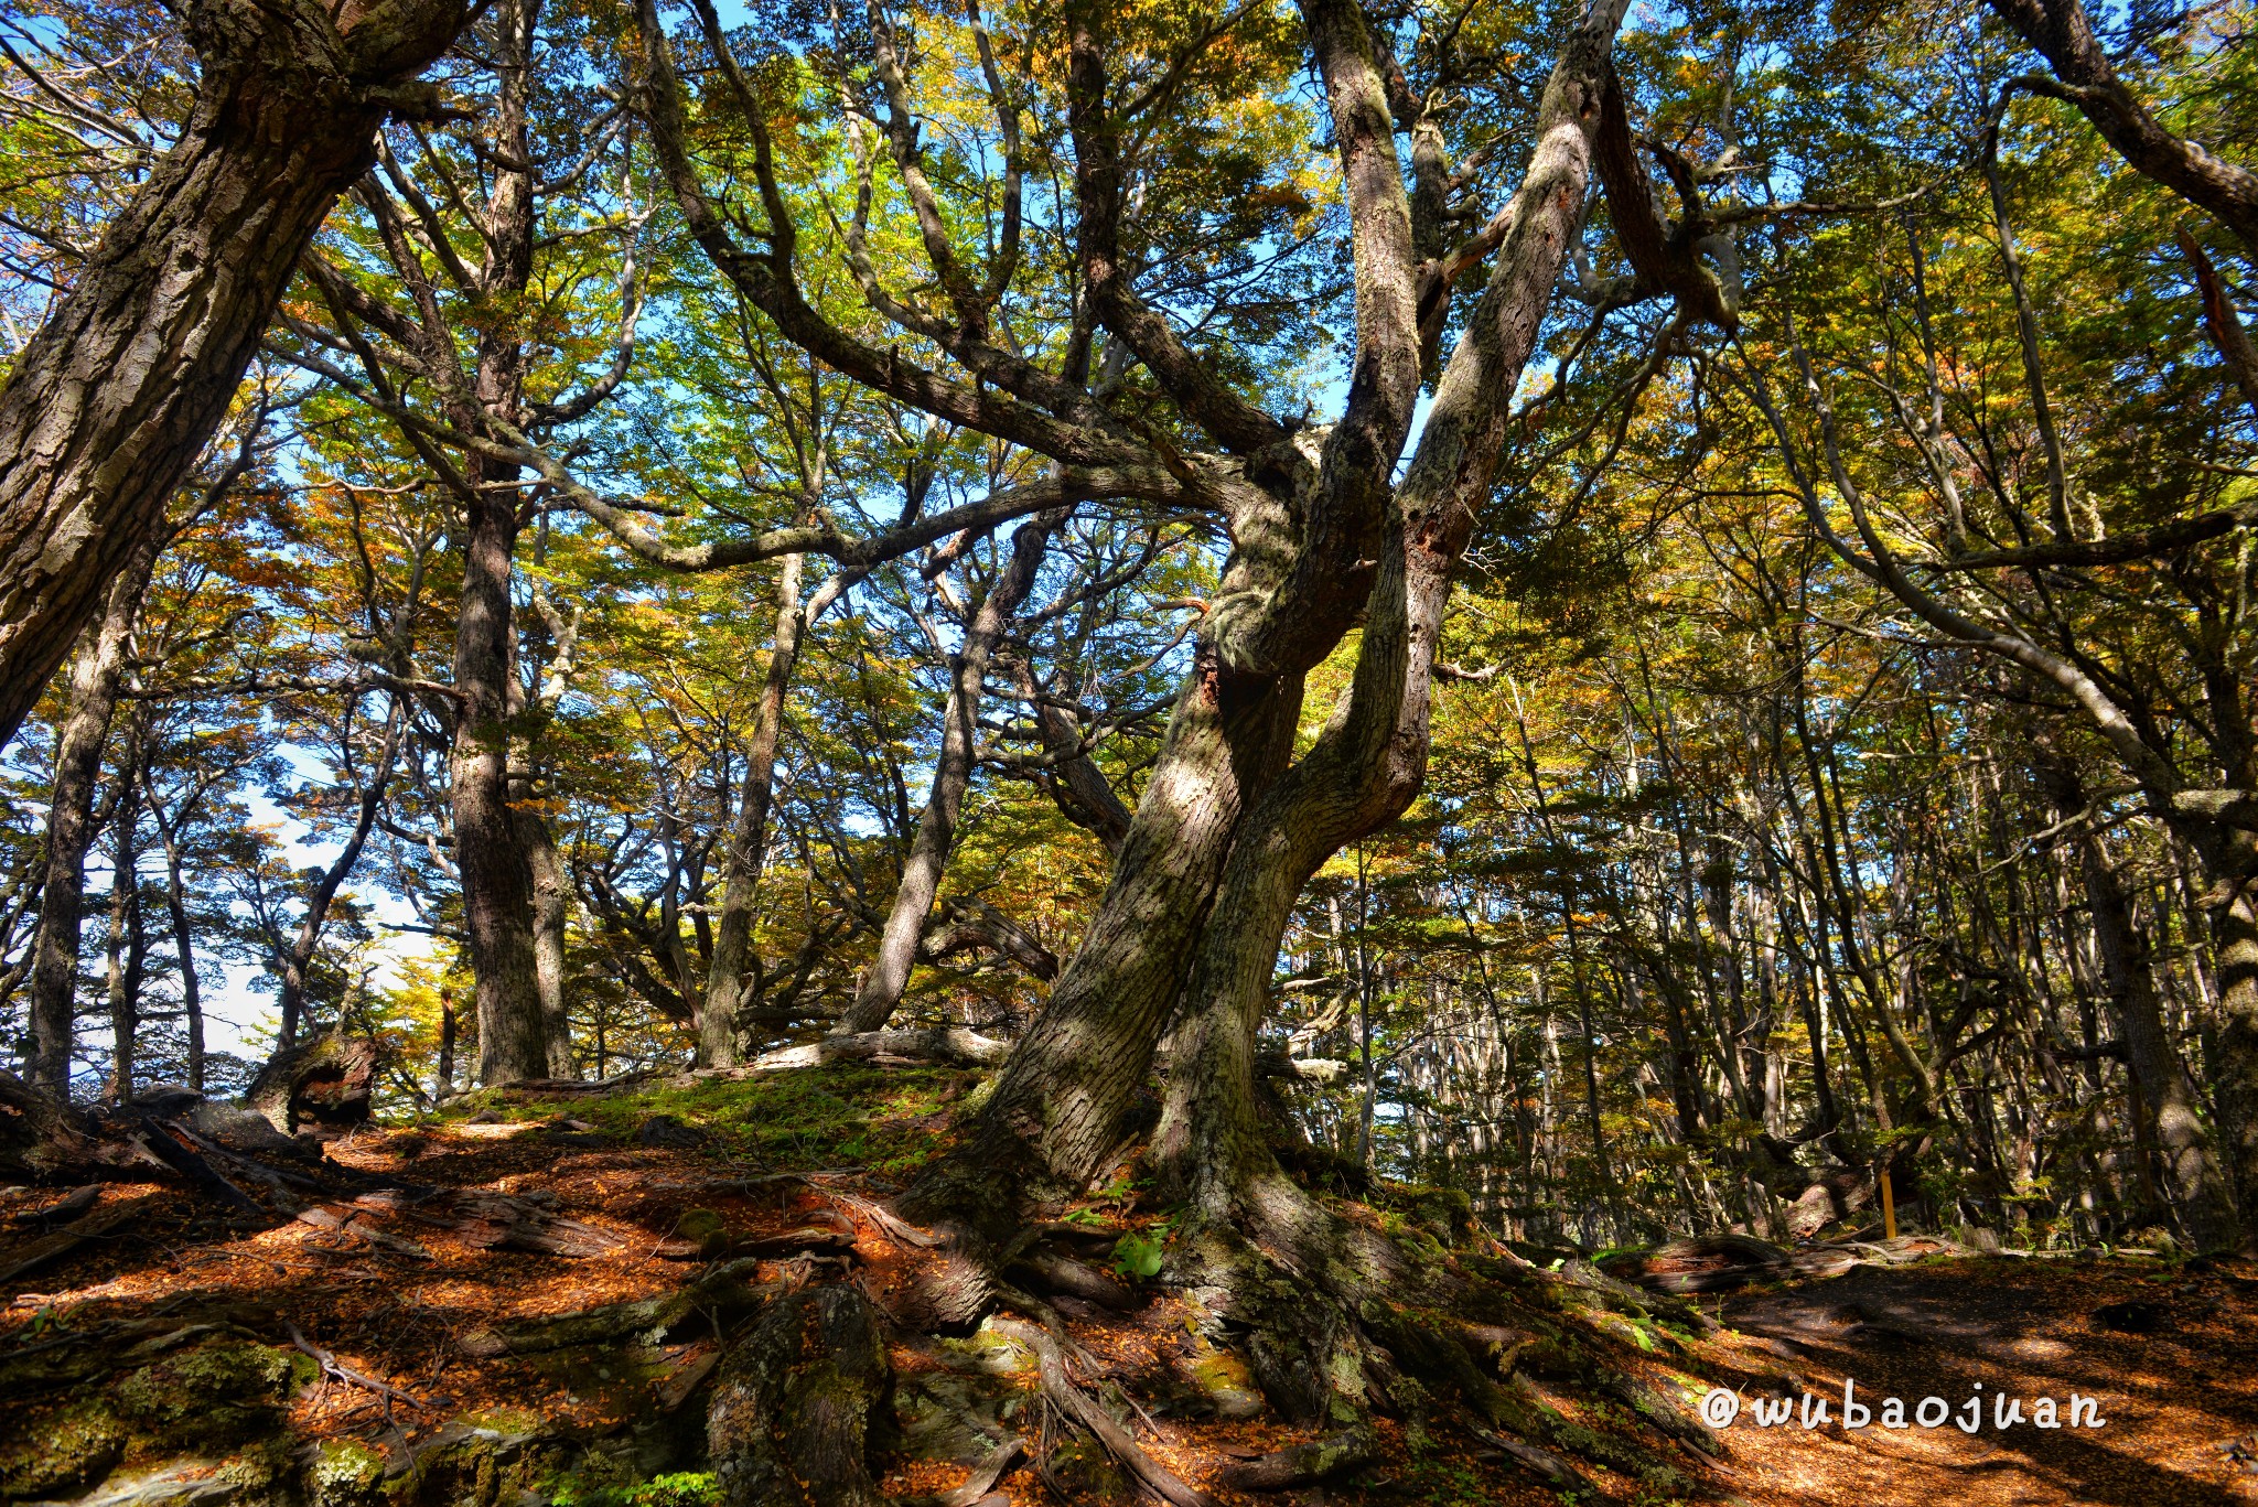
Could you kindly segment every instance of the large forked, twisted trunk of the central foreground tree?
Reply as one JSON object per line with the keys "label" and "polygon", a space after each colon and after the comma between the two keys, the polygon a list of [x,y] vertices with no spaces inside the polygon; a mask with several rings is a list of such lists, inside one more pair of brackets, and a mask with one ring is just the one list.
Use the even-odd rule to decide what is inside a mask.
{"label": "large forked, twisted trunk of the central foreground tree", "polygon": [[[1174,1069],[1156,1136],[1163,1161],[1194,1197],[1213,1191],[1219,1204],[1240,1195],[1264,1202],[1283,1184],[1255,1123],[1253,1084],[1253,1030],[1278,942],[1307,874],[1400,811],[1425,775],[1427,689],[1450,572],[1497,474],[1506,395],[1581,219],[1619,16],[1614,5],[1594,7],[1563,50],[1490,285],[1395,495],[1389,477],[1411,425],[1418,334],[1411,289],[1366,258],[1407,262],[1409,224],[1384,203],[1359,210],[1350,416],[1328,436],[1307,493],[1274,497],[1276,513],[1260,497],[1240,502],[1233,560],[1097,915],[971,1134],[910,1188],[912,1209],[953,1213],[984,1231],[1014,1220],[1027,1197],[1077,1191],[1120,1150],[1172,1014]],[[1393,156],[1362,18],[1339,5],[1310,5],[1305,18],[1321,32],[1314,47],[1334,93],[1344,156]],[[1086,25],[1070,14],[1073,111],[1104,99]],[[1077,147],[1095,149],[1095,133],[1082,140],[1075,124]],[[1350,176],[1382,201],[1402,192],[1395,163],[1357,156]],[[1086,219],[1091,212],[1084,206]],[[1389,235],[1402,244],[1375,244]],[[1375,549],[1366,596],[1355,585]],[[1287,768],[1303,676],[1341,639],[1357,606],[1366,628],[1353,687],[1316,746]],[[1298,1220],[1292,1202],[1276,1204],[1285,1225]]]}

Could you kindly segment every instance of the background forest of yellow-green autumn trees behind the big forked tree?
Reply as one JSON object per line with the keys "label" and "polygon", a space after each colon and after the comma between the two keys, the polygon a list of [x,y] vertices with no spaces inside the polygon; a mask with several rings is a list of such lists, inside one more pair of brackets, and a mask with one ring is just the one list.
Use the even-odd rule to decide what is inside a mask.
{"label": "background forest of yellow-green autumn trees behind the big forked tree", "polygon": [[[1628,18],[1425,784],[1319,854],[1264,974],[1289,1159],[1585,1247],[1811,1234],[1876,1166],[2014,1245],[2251,1222],[2258,197],[2204,212],[2095,129],[2093,59],[2019,9]],[[1427,269],[1418,434],[1565,14],[1362,14]],[[1154,352],[1283,434],[1371,380],[1301,14],[1109,16],[1149,348],[1093,314],[1054,7],[476,11],[0,757],[0,1064],[224,1094],[343,1033],[409,1114],[1023,1037],[1237,590],[1244,529],[1183,477],[1251,400]],[[2093,45],[2231,178],[2253,25],[2141,0]],[[11,0],[0,43],[16,357],[199,61],[135,0]],[[779,226],[797,303],[756,276]],[[942,355],[1066,418],[885,375]],[[1102,427],[1036,366],[1163,461],[1030,441]],[[1298,750],[1359,673],[1341,624]]]}

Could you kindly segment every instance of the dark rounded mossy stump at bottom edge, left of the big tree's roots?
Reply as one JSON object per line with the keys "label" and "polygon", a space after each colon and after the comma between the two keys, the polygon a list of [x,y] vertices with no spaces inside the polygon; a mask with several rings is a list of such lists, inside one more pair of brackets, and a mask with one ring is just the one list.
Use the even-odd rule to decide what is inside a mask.
{"label": "dark rounded mossy stump at bottom edge, left of the big tree's roots", "polygon": [[878,1310],[858,1290],[770,1304],[723,1358],[707,1405],[723,1507],[883,1507],[865,1444],[892,1380]]}

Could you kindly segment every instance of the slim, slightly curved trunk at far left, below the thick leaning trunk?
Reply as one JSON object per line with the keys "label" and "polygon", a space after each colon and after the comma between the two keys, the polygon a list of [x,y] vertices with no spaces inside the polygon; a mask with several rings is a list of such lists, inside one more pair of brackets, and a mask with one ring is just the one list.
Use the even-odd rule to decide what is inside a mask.
{"label": "slim, slightly curved trunk at far left, below the thick leaning trunk", "polygon": [[151,529],[111,583],[102,626],[79,651],[70,703],[47,786],[47,879],[41,897],[38,956],[32,962],[32,1084],[70,1096],[70,1046],[79,994],[79,924],[86,915],[86,850],[93,843],[102,748],[126,673],[126,644],[163,533]]}

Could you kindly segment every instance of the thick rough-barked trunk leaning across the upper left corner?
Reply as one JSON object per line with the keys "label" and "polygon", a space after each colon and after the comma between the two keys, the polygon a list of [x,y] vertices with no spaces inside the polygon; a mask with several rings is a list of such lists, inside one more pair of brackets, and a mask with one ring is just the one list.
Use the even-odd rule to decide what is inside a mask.
{"label": "thick rough-barked trunk leaning across the upper left corner", "polygon": [[0,741],[163,526],[282,285],[456,0],[201,0],[196,108],[0,389]]}

